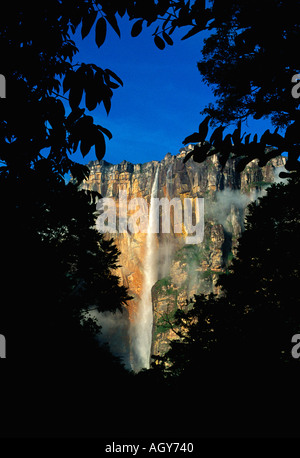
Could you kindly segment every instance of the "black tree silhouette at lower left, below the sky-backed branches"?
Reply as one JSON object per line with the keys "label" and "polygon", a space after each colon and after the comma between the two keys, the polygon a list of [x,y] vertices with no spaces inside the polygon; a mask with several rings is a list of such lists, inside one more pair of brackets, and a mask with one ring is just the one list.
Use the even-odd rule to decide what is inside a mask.
{"label": "black tree silhouette at lower left, below the sky-backed branches", "polygon": [[0,190],[1,434],[103,432],[108,425],[96,422],[93,393],[112,396],[130,376],[99,346],[101,329],[89,311],[126,305],[114,274],[119,253],[94,229],[90,196],[59,180],[47,160],[22,179],[2,177]]}

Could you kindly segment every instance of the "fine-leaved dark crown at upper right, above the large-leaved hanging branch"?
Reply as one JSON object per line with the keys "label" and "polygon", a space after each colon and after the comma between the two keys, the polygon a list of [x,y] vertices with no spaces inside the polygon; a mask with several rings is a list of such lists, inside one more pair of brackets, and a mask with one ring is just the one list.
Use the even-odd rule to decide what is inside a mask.
{"label": "fine-leaved dark crown at upper right, above the large-leaved hanging branch", "polygon": [[213,33],[198,68],[214,88],[215,119],[270,116],[276,127],[299,120],[299,103],[291,96],[292,76],[299,73],[299,8],[297,0],[229,0],[226,8],[213,2]]}

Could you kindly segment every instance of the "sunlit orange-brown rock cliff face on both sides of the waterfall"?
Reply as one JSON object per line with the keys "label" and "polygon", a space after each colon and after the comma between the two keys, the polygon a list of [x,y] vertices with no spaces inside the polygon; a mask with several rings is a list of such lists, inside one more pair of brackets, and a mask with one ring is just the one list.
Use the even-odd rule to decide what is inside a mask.
{"label": "sunlit orange-brown rock cliff face on both sides of the waterfall", "polygon": [[[83,187],[98,191],[103,197],[111,197],[116,203],[117,223],[120,215],[120,190],[126,191],[127,203],[142,197],[150,202],[153,181],[157,167],[158,186],[156,197],[168,201],[179,198],[204,198],[204,238],[201,243],[187,244],[186,228],[177,233],[174,219],[168,233],[161,230],[152,240],[152,268],[156,269],[158,281],[152,287],[153,340],[152,353],[162,354],[168,349],[169,339],[176,338],[168,320],[172,319],[177,307],[186,303],[197,293],[216,290],[220,272],[227,268],[234,256],[237,240],[243,230],[245,208],[258,197],[263,189],[278,177],[284,166],[284,158],[275,158],[264,168],[250,163],[243,173],[236,171],[236,161],[231,160],[222,171],[217,156],[204,163],[192,160],[183,164],[183,158],[190,147],[180,154],[145,164],[130,164],[123,161],[112,165],[105,161],[89,163],[90,176]],[[125,194],[123,194],[125,195]],[[128,215],[133,210],[128,210]],[[173,211],[174,213],[174,211]],[[172,214],[172,210],[171,210]],[[173,214],[172,214],[173,216]],[[118,227],[118,224],[117,224]],[[128,308],[128,358],[135,367],[139,351],[135,339],[139,323],[139,309],[145,287],[145,257],[147,250],[146,233],[111,234],[121,255],[119,276],[134,297]],[[149,248],[148,248],[149,249]]]}

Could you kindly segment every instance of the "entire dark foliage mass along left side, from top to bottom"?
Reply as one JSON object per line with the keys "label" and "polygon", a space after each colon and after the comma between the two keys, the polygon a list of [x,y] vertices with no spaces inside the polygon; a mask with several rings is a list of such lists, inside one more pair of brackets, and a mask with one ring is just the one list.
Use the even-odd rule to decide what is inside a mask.
{"label": "entire dark foliage mass along left side, from top to bottom", "polygon": [[[99,346],[99,324],[88,315],[123,309],[129,297],[114,274],[116,247],[94,228],[93,196],[78,191],[88,169],[71,159],[78,146],[83,156],[94,146],[101,159],[104,136],[111,138],[80,107],[82,97],[87,110],[103,103],[108,113],[122,84],[109,69],[72,62],[70,31],[81,24],[86,36],[93,10],[93,2],[17,1],[0,18],[7,80],[0,103],[4,435],[96,429],[86,398],[95,387],[115,391],[129,376]],[[110,10],[102,17],[117,31]],[[74,180],[66,185],[68,172]]]}

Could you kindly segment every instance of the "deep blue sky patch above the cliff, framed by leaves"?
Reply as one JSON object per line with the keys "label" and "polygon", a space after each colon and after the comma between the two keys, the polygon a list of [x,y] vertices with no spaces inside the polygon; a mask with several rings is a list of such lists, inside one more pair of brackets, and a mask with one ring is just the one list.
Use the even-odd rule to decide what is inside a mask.
{"label": "deep blue sky patch above the cliff, framed by leaves", "polygon": [[[204,36],[181,41],[188,31],[184,28],[173,34],[174,45],[161,51],[153,42],[153,27],[132,38],[133,22],[127,17],[118,18],[118,22],[121,39],[108,26],[100,49],[95,44],[94,28],[84,40],[80,28],[72,37],[79,49],[74,63],[93,62],[103,69],[110,68],[124,83],[124,87],[114,90],[108,116],[102,104],[91,112],[95,123],[113,134],[107,141],[104,159],[113,164],[124,159],[143,163],[161,160],[168,152],[177,154],[182,140],[197,130],[203,119],[200,110],[214,100],[197,69]],[[259,134],[268,127],[261,122],[249,123],[249,129],[255,128]],[[79,151],[74,155],[74,160],[81,163],[95,159],[94,148],[84,159]]]}

